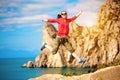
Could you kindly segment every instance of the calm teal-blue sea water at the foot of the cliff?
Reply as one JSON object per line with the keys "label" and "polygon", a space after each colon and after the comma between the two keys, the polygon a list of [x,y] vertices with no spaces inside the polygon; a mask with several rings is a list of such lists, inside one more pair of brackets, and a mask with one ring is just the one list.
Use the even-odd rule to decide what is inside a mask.
{"label": "calm teal-blue sea water at the foot of the cliff", "polygon": [[28,80],[43,74],[87,72],[87,68],[22,68],[24,63],[34,58],[0,59],[0,80]]}

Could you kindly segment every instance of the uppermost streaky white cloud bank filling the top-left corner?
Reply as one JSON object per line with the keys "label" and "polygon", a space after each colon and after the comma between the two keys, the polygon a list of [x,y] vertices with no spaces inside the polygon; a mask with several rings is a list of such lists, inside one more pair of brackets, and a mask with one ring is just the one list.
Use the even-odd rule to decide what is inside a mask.
{"label": "uppermost streaky white cloud bank filling the top-left corner", "polygon": [[[12,14],[35,15],[47,12],[55,7],[61,7],[66,1],[61,0],[2,0],[0,1],[0,15],[9,16]],[[52,11],[55,9],[52,9]],[[14,15],[12,15],[14,16]]]}

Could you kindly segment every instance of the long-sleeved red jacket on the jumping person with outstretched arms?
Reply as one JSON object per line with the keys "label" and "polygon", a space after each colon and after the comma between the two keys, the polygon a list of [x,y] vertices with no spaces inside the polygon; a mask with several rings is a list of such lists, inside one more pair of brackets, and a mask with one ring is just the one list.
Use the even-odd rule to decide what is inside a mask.
{"label": "long-sleeved red jacket on the jumping person with outstretched arms", "polygon": [[77,16],[74,16],[72,18],[64,19],[64,18],[58,18],[58,19],[48,19],[47,22],[56,22],[58,23],[58,33],[57,36],[64,37],[68,36],[69,33],[69,23],[73,20],[75,20]]}

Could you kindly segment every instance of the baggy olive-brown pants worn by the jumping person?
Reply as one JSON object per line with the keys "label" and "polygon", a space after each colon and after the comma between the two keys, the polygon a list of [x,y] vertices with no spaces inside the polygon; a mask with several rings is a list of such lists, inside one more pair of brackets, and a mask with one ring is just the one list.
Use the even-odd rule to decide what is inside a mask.
{"label": "baggy olive-brown pants worn by the jumping person", "polygon": [[67,37],[56,37],[56,44],[52,51],[53,54],[57,53],[58,48],[61,44],[63,44],[66,47],[66,49],[69,50],[71,53],[73,53],[75,51],[73,49],[72,45],[68,42]]}

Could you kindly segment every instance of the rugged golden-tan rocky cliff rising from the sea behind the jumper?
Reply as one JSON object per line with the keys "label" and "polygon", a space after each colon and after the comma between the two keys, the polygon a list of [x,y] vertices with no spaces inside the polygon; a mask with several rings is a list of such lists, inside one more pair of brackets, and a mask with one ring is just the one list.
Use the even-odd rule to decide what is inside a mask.
{"label": "rugged golden-tan rocky cliff rising from the sea behind the jumper", "polygon": [[[55,46],[57,30],[50,23],[43,29],[43,41]],[[101,5],[98,20],[93,27],[83,27],[75,22],[70,24],[69,42],[79,58],[87,57],[85,63],[79,64],[76,59],[67,62],[67,50],[60,45],[57,54],[53,55],[45,48],[36,57],[33,67],[96,67],[98,64],[109,64],[120,58],[120,1],[105,0]]]}

